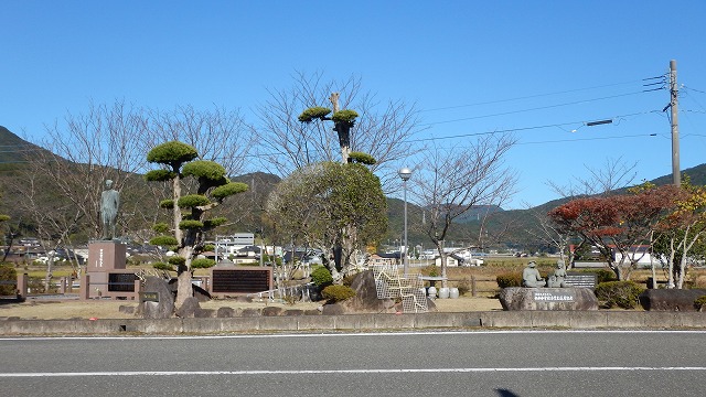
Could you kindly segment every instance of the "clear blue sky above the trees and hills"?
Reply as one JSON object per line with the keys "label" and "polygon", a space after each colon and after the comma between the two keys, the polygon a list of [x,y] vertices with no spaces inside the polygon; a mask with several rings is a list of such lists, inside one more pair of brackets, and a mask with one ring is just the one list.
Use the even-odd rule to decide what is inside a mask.
{"label": "clear blue sky above the trees and hills", "polygon": [[558,197],[548,181],[587,178],[611,159],[637,162],[638,182],[670,174],[668,92],[643,92],[655,82],[643,78],[676,60],[681,168],[705,162],[704,1],[0,4],[0,125],[32,141],[90,101],[215,104],[256,122],[250,109],[295,72],[356,75],[382,100],[416,103],[419,138],[450,155],[473,135],[514,130],[509,207],[522,208]]}

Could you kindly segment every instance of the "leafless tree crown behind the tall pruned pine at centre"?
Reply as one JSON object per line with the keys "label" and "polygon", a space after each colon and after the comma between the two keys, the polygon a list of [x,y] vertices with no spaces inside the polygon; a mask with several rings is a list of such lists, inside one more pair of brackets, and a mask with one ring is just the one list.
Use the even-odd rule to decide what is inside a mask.
{"label": "leafless tree crown behind the tall pruned pine at centre", "polygon": [[293,87],[270,90],[269,99],[258,107],[261,126],[255,129],[259,138],[263,167],[270,173],[286,176],[304,165],[339,161],[341,146],[330,122],[302,124],[303,109],[330,103],[331,93],[340,94],[341,109],[355,109],[359,117],[351,129],[354,151],[371,154],[377,162],[371,171],[381,175],[383,186],[398,185],[395,163],[411,154],[410,137],[419,131],[414,105],[403,100],[381,103],[363,92],[360,78],[323,82],[322,74],[298,73]]}

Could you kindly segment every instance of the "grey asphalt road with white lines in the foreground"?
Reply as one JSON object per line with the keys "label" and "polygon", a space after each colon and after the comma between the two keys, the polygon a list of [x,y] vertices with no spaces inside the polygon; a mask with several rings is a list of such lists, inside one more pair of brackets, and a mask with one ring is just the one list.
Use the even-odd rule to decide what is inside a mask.
{"label": "grey asphalt road with white lines in the foreground", "polygon": [[6,396],[703,396],[706,332],[0,339]]}

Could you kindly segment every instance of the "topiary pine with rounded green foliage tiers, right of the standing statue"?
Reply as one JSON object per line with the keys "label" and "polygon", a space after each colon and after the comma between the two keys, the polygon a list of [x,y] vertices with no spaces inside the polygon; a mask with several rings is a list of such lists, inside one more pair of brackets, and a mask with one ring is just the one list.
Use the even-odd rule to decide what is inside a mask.
{"label": "topiary pine with rounded green foliage tiers, right of the standing statue", "polygon": [[[160,203],[160,207],[171,210],[172,224],[154,225],[154,230],[161,235],[151,239],[150,244],[174,247],[179,257],[183,258],[176,264],[178,308],[186,298],[193,296],[192,269],[214,265],[193,260],[205,248],[205,234],[226,222],[223,217],[207,218],[206,214],[222,204],[226,197],[248,189],[245,183],[231,182],[221,164],[197,158],[196,149],[179,141],[159,144],[147,154],[147,161],[162,164],[164,168],[149,171],[145,175],[146,180],[172,183],[172,197]],[[196,181],[194,193],[182,194],[185,178]]]}

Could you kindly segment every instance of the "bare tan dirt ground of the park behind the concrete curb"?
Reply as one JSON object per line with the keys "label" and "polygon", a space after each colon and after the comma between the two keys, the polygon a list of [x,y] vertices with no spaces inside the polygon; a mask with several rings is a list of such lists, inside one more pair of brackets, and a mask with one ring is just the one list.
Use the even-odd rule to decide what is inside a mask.
{"label": "bare tan dirt ground of the park behind the concrete curb", "polygon": [[[437,299],[439,312],[469,312],[502,310],[498,299],[459,298]],[[135,301],[116,300],[28,300],[22,303],[0,305],[0,319],[20,318],[23,320],[66,320],[66,319],[133,319],[135,315],[119,311],[121,305],[137,307]],[[239,302],[235,300],[212,300],[201,303],[203,309],[263,309],[279,307],[285,310],[310,310],[320,307],[320,302],[280,303],[280,302]]]}

